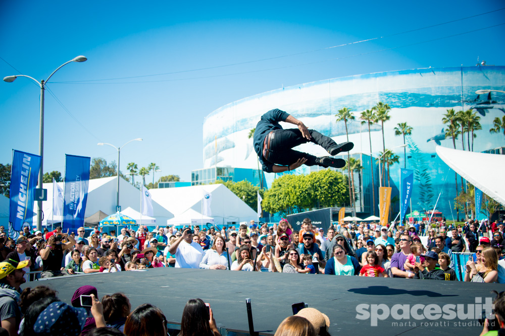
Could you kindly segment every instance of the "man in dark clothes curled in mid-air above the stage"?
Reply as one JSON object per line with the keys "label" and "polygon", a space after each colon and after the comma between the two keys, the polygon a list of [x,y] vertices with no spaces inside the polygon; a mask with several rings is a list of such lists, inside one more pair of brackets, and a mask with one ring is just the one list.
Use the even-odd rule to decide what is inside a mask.
{"label": "man in dark clothes curled in mid-air above the stage", "polygon": [[[292,123],[298,126],[298,129],[282,129],[279,121]],[[331,156],[348,152],[354,147],[351,142],[335,143],[331,138],[323,136],[317,130],[308,129],[303,122],[279,109],[270,110],[262,115],[254,132],[254,149],[263,165],[263,170],[267,173],[281,173],[296,169],[303,164],[325,168],[345,166],[345,161],[342,159],[328,156],[318,158],[293,150],[293,147],[309,141],[323,147]]]}

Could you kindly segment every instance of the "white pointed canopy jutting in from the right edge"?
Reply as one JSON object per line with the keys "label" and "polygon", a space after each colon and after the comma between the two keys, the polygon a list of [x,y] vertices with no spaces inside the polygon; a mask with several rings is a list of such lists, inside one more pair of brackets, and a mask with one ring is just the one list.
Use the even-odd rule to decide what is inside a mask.
{"label": "white pointed canopy jutting in from the right edge", "polygon": [[505,155],[466,152],[441,146],[436,147],[436,152],[452,170],[505,206]]}

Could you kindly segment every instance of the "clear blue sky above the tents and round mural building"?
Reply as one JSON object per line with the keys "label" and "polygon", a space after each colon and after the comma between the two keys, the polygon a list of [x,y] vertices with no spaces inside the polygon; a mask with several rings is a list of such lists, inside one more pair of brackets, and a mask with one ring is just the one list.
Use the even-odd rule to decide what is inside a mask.
{"label": "clear blue sky above the tents and round mural building", "polygon": [[[190,181],[191,170],[203,166],[203,119],[215,109],[329,78],[474,66],[477,57],[504,65],[505,25],[439,39],[503,24],[505,10],[459,19],[504,7],[486,0],[3,1],[0,75],[42,80],[77,55],[88,58],[47,84],[66,110],[46,90],[44,172],[63,172],[65,154],[117,160],[116,150],[96,144],[143,138],[121,151],[123,172],[128,162],[155,162],[162,170],[156,178]],[[438,25],[453,20],[459,21]],[[416,30],[432,25],[438,26]],[[116,78],[128,79],[110,80]],[[26,78],[0,83],[1,163],[11,162],[12,149],[38,153],[39,93]]]}

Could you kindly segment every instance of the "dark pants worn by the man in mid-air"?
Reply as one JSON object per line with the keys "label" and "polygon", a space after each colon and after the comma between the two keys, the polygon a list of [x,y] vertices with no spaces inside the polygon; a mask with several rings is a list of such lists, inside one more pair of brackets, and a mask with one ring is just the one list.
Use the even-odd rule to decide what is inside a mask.
{"label": "dark pants worn by the man in mid-air", "polygon": [[[309,133],[311,135],[310,142],[323,147],[326,151],[328,151],[331,146],[336,145],[331,138],[323,136],[317,130],[309,129]],[[307,159],[305,163],[307,166],[315,166],[317,164],[314,155],[292,149],[293,147],[309,142],[309,140],[301,136],[301,131],[298,128],[276,129],[274,130],[273,136],[274,138],[270,146],[268,161],[278,165],[288,166],[298,159],[305,158]]]}

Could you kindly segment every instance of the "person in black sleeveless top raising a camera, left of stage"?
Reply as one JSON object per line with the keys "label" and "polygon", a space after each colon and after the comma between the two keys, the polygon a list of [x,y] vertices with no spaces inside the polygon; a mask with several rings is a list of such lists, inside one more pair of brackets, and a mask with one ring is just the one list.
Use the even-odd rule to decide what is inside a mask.
{"label": "person in black sleeveless top raising a camera, left of stage", "polygon": [[[62,240],[65,237],[67,243],[63,244]],[[40,278],[52,278],[68,276],[67,272],[61,271],[63,251],[71,249],[75,245],[75,239],[67,233],[56,232],[47,239],[47,246],[40,250],[43,269]]]}

